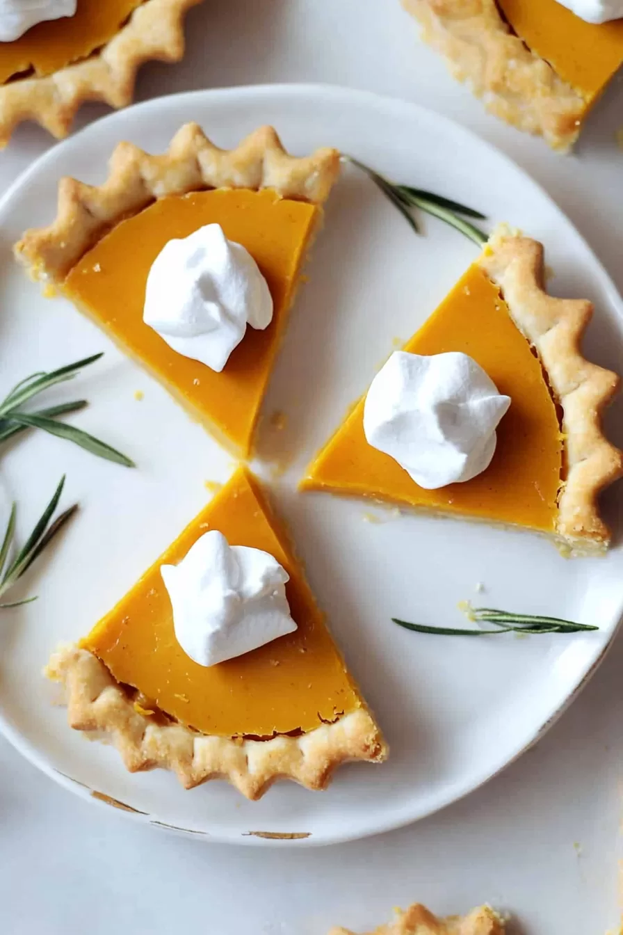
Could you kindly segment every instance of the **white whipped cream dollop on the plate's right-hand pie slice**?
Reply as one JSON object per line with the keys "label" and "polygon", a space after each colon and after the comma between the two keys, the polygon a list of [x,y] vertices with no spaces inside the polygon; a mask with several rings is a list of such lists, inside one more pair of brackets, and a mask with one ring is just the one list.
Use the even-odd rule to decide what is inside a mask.
{"label": "white whipped cream dollop on the plate's right-hand pie slice", "polygon": [[435,490],[488,468],[510,404],[467,354],[396,351],[365,397],[363,431],[420,487]]}

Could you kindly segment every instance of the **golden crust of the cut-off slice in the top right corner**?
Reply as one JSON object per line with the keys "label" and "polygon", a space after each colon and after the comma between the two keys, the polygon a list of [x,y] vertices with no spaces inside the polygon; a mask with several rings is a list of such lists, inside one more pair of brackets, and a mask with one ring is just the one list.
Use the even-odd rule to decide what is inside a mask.
{"label": "golden crust of the cut-off slice in the top right corner", "polygon": [[403,0],[403,5],[454,77],[467,81],[491,113],[542,135],[554,149],[573,146],[584,98],[511,32],[495,0]]}

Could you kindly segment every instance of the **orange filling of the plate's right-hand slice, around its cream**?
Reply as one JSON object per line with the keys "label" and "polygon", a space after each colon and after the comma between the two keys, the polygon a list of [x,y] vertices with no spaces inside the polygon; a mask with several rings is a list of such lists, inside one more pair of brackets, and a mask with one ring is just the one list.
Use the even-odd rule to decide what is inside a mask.
{"label": "orange filling of the plate's right-hand slice, around its cream", "polygon": [[301,482],[302,490],[372,497],[406,507],[518,525],[554,534],[563,470],[556,406],[536,354],[517,329],[500,289],[474,264],[404,351],[463,352],[511,397],[489,467],[471,481],[425,490],[363,433],[356,405]]}

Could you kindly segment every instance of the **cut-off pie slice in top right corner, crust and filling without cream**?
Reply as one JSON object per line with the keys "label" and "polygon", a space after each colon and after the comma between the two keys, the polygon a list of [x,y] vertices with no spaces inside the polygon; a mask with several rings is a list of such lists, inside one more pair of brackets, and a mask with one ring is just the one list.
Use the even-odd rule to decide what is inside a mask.
{"label": "cut-off pie slice in top right corner, crust and filling without cream", "polygon": [[594,24],[557,0],[403,0],[422,36],[497,117],[557,150],[623,64],[623,20]]}

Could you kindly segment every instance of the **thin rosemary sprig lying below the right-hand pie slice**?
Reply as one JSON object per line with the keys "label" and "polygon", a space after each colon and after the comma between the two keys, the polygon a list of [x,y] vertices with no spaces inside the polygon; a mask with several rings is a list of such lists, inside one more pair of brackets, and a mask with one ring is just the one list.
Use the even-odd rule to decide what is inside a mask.
{"label": "thin rosemary sprig lying below the right-hand pie slice", "polygon": [[472,607],[469,601],[460,604],[460,609],[469,620],[474,623],[492,624],[495,629],[465,629],[454,626],[426,626],[424,624],[410,624],[405,620],[392,617],[394,624],[404,626],[407,630],[416,633],[433,633],[437,636],[450,637],[483,637],[494,636],[498,633],[579,633],[584,630],[598,630],[599,626],[590,624],[576,624],[573,620],[563,620],[561,617],[545,617],[542,614],[510,613],[499,611],[492,607]]}

